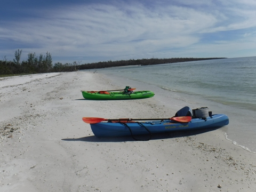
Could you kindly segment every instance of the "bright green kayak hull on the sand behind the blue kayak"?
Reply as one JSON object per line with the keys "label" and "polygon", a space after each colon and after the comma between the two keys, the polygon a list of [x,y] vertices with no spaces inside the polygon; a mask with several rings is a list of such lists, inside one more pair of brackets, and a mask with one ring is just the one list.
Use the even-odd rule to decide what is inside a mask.
{"label": "bright green kayak hull on the sand behind the blue kayak", "polygon": [[108,92],[98,93],[93,91],[82,91],[84,99],[89,100],[122,100],[122,99],[145,99],[155,95],[152,91],[135,91],[131,94],[124,94],[124,92]]}

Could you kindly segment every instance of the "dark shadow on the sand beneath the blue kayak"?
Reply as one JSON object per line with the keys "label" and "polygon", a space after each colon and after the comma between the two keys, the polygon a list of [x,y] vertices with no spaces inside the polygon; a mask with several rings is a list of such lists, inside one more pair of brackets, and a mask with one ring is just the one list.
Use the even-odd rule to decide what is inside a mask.
{"label": "dark shadow on the sand beneath the blue kayak", "polygon": [[[206,133],[209,131],[214,131],[219,129],[220,127],[215,127],[212,129],[201,129],[201,130],[193,130],[193,131],[175,131],[175,132],[167,132],[167,133],[157,133],[157,134],[152,134],[152,137],[150,140],[157,140],[157,139],[168,139],[168,138],[180,138],[180,137],[188,137],[191,135],[197,135],[197,134],[202,134]],[[150,135],[134,135],[133,136],[135,139],[144,140],[148,141],[150,138]],[[132,138],[132,136],[127,136],[127,137],[95,137],[94,135],[92,136],[87,136],[87,137],[82,137],[82,138],[67,138],[67,139],[61,139],[62,141],[86,141],[86,142],[125,142],[125,141],[136,141]]]}

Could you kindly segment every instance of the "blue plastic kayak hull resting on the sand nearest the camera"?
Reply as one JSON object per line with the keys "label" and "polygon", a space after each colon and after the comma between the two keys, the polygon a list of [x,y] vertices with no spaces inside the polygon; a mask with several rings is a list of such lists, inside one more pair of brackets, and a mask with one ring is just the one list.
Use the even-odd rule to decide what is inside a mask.
{"label": "blue plastic kayak hull resting on the sand nearest the camera", "polygon": [[95,123],[90,125],[91,125],[92,132],[96,137],[123,137],[123,136],[129,136],[131,134],[143,135],[143,134],[148,134],[149,132],[165,133],[165,132],[172,132],[172,131],[212,129],[214,127],[221,127],[221,126],[228,125],[228,123],[229,123],[229,119],[227,115],[215,114],[215,115],[212,115],[212,117],[207,117],[206,119],[193,118],[188,123],[179,123],[179,122],[166,120],[166,121],[140,122],[140,124],[137,122],[125,123],[125,124],[100,122],[100,123]]}

